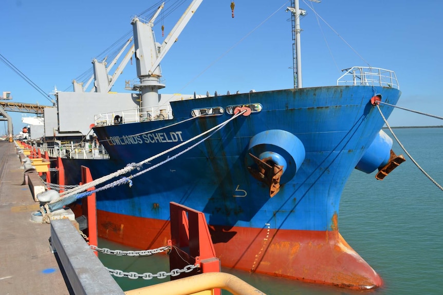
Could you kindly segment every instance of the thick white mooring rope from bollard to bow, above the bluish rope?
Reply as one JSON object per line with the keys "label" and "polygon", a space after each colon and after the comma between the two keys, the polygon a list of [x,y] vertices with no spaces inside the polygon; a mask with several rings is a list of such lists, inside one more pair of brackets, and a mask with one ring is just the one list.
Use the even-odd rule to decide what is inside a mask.
{"label": "thick white mooring rope from bollard to bow, above the bluish rope", "polygon": [[49,204],[57,203],[57,202],[59,202],[60,200],[62,200],[62,199],[64,199],[64,198],[67,198],[68,196],[71,196],[71,195],[73,195],[73,194],[77,194],[77,193],[79,193],[79,192],[85,191],[85,190],[87,190],[88,188],[91,188],[91,187],[97,186],[97,185],[99,185],[99,184],[101,184],[101,183],[104,183],[104,182],[106,182],[106,181],[108,181],[108,180],[111,180],[111,179],[113,179],[113,178],[116,178],[117,176],[120,176],[120,175],[123,175],[123,174],[125,174],[125,173],[128,173],[128,172],[134,170],[135,168],[142,166],[143,164],[149,163],[150,161],[152,161],[152,160],[158,158],[159,156],[162,156],[162,155],[164,155],[164,154],[166,154],[166,153],[169,153],[169,152],[171,152],[171,151],[173,151],[173,150],[175,150],[175,149],[177,149],[177,148],[179,148],[179,147],[181,147],[181,146],[183,146],[183,145],[188,144],[188,143],[191,142],[191,141],[194,141],[194,140],[198,139],[198,138],[201,137],[201,136],[204,136],[204,135],[206,135],[206,134],[208,134],[208,133],[210,133],[210,132],[212,132],[212,131],[214,131],[214,130],[216,130],[216,129],[219,129],[219,128],[221,128],[221,127],[226,126],[226,124],[228,124],[230,121],[236,119],[236,117],[242,115],[244,112],[246,112],[246,110],[243,110],[243,111],[241,111],[241,112],[238,112],[237,114],[235,114],[234,116],[232,116],[232,117],[230,117],[228,120],[226,120],[225,122],[222,122],[222,123],[218,124],[217,126],[214,126],[214,127],[212,127],[211,129],[206,130],[205,132],[202,132],[202,133],[200,133],[199,135],[194,136],[194,137],[193,137],[192,139],[190,139],[190,140],[187,140],[187,141],[185,141],[185,142],[182,142],[181,144],[178,144],[178,145],[176,145],[176,146],[174,146],[174,147],[172,147],[172,148],[170,148],[170,149],[168,149],[168,150],[165,150],[165,151],[163,151],[163,152],[161,152],[161,153],[159,153],[159,154],[156,154],[156,155],[152,156],[151,158],[148,158],[148,159],[146,159],[146,160],[143,160],[143,161],[141,161],[141,162],[139,162],[139,163],[131,163],[131,164],[128,164],[128,165],[127,165],[126,167],[124,167],[123,169],[120,169],[120,170],[117,170],[116,172],[113,172],[113,173],[110,173],[110,174],[108,174],[108,175],[102,176],[101,178],[99,178],[99,179],[97,179],[97,180],[94,180],[94,181],[91,181],[91,182],[85,183],[85,184],[83,184],[83,185],[81,185],[81,186],[78,186],[78,187],[73,188],[73,189],[70,189],[70,190],[66,190],[66,191],[60,193],[60,198],[58,198],[58,199],[56,199],[56,200],[53,200],[53,201],[49,202]]}

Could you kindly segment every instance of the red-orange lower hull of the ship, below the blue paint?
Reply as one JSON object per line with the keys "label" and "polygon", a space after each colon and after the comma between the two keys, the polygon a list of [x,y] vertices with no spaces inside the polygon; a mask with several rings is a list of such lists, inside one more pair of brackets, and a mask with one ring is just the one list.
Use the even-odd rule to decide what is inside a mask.
{"label": "red-orange lower hull of the ship, below the blue paint", "polygon": [[[99,237],[139,249],[167,245],[169,221],[98,210]],[[338,227],[336,227],[338,228]],[[210,226],[222,266],[348,288],[374,288],[380,276],[338,230],[276,230]]]}

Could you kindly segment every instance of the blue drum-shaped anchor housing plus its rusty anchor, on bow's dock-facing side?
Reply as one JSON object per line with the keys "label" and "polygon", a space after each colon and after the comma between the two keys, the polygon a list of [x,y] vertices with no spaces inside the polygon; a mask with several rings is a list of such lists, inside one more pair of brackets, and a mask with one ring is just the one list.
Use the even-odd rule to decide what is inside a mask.
{"label": "blue drum-shaped anchor housing plus its rusty anchor, on bow's dock-facing side", "polygon": [[284,130],[267,130],[252,137],[246,164],[252,176],[269,186],[272,197],[290,181],[305,160],[298,137]]}

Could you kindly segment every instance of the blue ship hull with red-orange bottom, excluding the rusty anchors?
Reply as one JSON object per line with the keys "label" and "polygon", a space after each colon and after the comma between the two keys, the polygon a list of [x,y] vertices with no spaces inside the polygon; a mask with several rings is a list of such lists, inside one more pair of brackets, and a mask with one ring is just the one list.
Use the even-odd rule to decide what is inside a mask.
{"label": "blue ship hull with red-orange bottom, excluding the rusty anchors", "polygon": [[[338,231],[346,180],[384,124],[370,103],[375,94],[395,105],[400,91],[332,86],[171,102],[173,120],[94,127],[111,159],[65,159],[65,168],[78,173],[79,165],[86,165],[93,178],[99,178],[232,117],[224,112],[174,124],[189,119],[191,110],[260,104],[259,112],[237,117],[195,148],[134,178],[132,187],[99,192],[99,234],[139,248],[163,246],[170,238],[169,203],[176,202],[206,214],[222,265],[308,282],[380,286],[378,274]],[[381,110],[388,117],[392,107]],[[263,140],[257,134],[268,137]],[[167,160],[189,145],[140,169]],[[257,147],[271,149],[286,160],[280,187],[272,197],[269,185],[254,178],[248,168],[255,165],[249,153],[260,153]]]}

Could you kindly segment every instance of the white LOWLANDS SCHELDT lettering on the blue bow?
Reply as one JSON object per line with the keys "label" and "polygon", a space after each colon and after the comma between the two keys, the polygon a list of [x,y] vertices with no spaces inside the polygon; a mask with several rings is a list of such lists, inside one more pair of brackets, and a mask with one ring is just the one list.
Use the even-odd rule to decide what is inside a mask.
{"label": "white LOWLANDS SCHELDT lettering on the blue bow", "polygon": [[110,145],[136,145],[142,143],[172,143],[172,142],[182,142],[181,131],[165,132],[159,133],[147,133],[135,136],[123,135],[123,136],[110,136]]}

